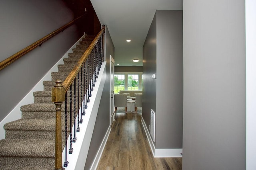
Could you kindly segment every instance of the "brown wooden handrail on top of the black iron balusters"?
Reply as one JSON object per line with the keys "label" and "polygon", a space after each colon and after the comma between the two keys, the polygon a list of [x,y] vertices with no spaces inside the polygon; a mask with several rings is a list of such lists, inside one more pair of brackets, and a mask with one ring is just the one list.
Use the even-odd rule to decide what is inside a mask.
{"label": "brown wooden handrail on top of the black iron balusters", "polygon": [[100,37],[104,33],[104,31],[105,31],[105,26],[103,25],[100,32],[96,35],[96,37],[94,38],[92,43],[89,45],[89,47],[86,49],[86,51],[84,52],[82,57],[79,59],[78,63],[74,66],[73,70],[70,72],[70,74],[67,76],[67,78],[62,83],[62,86],[65,89],[65,93],[68,91],[68,88],[72,84],[72,82],[75,79],[77,73],[81,69],[83,63],[86,61],[86,59],[88,58],[88,56],[92,52],[94,46],[96,45],[96,43],[98,42],[98,40],[100,39]]}

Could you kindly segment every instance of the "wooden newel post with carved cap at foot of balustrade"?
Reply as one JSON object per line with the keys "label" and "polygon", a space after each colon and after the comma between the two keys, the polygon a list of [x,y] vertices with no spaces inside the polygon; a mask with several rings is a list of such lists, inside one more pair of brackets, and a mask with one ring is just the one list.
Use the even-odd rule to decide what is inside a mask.
{"label": "wooden newel post with carved cap at foot of balustrade", "polygon": [[56,106],[56,125],[55,125],[55,170],[61,170],[62,167],[62,141],[61,141],[61,105],[65,101],[65,89],[61,80],[56,81],[52,88],[52,102]]}

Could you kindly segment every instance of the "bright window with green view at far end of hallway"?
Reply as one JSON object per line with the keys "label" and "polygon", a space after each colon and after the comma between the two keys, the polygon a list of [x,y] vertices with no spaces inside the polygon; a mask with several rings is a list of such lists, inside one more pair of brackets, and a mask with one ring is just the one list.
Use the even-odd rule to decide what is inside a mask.
{"label": "bright window with green view at far end of hallway", "polygon": [[120,90],[142,90],[142,72],[115,72],[114,93]]}

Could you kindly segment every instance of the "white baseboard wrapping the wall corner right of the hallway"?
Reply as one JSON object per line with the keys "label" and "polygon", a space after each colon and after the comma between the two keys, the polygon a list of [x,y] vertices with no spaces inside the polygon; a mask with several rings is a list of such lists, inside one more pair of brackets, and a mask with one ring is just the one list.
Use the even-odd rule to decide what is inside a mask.
{"label": "white baseboard wrapping the wall corner right of the hallway", "polygon": [[152,154],[153,154],[154,158],[180,158],[180,157],[182,157],[182,155],[181,155],[182,149],[156,149],[143,117],[141,117],[141,122],[142,122],[142,126],[144,128],[144,131],[147,135],[148,143],[150,145],[150,148],[152,150]]}

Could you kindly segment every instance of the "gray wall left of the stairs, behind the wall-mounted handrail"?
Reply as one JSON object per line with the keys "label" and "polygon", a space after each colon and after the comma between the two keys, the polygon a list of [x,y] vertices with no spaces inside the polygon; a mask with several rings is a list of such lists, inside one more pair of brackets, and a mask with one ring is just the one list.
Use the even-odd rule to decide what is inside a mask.
{"label": "gray wall left of the stairs, behind the wall-mounted handrail", "polygon": [[[73,20],[61,0],[12,0],[0,5],[0,61]],[[0,121],[79,39],[75,25],[0,70]]]}

